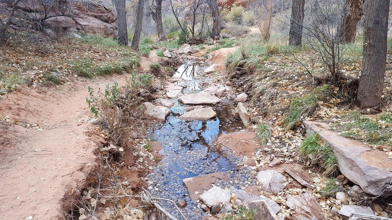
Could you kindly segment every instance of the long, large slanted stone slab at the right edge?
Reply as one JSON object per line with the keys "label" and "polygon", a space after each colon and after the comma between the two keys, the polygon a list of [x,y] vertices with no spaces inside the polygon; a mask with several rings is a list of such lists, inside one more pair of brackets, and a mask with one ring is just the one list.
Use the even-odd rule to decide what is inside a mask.
{"label": "long, large slanted stone slab at the right edge", "polygon": [[319,133],[320,138],[331,145],[339,170],[345,177],[370,195],[392,195],[391,190],[384,191],[392,185],[392,172],[384,170],[392,170],[392,164],[385,152],[372,150],[362,142],[339,136],[336,132],[329,131],[329,126],[325,123],[303,123],[308,130]]}

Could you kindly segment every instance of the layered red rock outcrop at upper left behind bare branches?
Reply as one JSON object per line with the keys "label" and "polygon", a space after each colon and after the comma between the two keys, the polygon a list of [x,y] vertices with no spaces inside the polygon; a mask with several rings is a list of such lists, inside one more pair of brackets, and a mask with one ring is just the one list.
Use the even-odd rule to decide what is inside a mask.
{"label": "layered red rock outcrop at upper left behind bare branches", "polygon": [[[58,3],[44,3],[43,0],[22,0],[19,9],[35,17],[44,18],[49,28],[76,28],[80,32],[115,36],[116,16],[97,0],[60,0]],[[47,1],[44,1],[47,2]],[[66,14],[71,16],[55,16]],[[71,18],[72,17],[72,18]]]}

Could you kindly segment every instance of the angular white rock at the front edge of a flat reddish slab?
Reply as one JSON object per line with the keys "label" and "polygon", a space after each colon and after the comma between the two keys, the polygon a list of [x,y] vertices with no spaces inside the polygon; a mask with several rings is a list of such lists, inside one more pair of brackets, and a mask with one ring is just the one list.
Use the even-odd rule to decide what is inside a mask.
{"label": "angular white rock at the front edge of a flat reddish slab", "polygon": [[229,191],[221,189],[217,186],[213,186],[207,192],[200,195],[199,199],[204,204],[212,207],[214,205],[220,205],[222,203],[229,203],[231,195]]}

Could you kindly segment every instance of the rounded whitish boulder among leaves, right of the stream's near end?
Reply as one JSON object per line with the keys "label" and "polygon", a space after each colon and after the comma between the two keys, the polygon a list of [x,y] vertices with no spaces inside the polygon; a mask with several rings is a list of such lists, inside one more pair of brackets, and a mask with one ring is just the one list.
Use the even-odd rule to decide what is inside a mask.
{"label": "rounded whitish boulder among leaves, right of the stream's near end", "polygon": [[257,180],[263,190],[271,193],[279,193],[286,186],[286,177],[274,170],[260,171]]}

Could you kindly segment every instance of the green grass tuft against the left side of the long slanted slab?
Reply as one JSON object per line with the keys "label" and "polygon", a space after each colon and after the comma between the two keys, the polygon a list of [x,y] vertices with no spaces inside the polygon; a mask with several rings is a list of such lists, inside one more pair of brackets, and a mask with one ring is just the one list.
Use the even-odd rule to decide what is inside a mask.
{"label": "green grass tuft against the left side of the long slanted slab", "polygon": [[299,156],[305,161],[319,163],[324,175],[332,176],[338,171],[338,161],[332,148],[320,140],[318,133],[310,133],[299,147]]}

